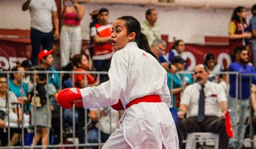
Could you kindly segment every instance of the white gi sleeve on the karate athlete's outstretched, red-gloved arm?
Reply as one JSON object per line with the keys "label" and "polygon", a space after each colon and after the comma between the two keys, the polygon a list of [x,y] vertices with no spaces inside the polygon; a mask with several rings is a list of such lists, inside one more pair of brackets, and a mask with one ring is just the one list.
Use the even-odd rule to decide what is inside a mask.
{"label": "white gi sleeve on the karate athlete's outstretched, red-gloved arm", "polygon": [[97,87],[80,89],[85,109],[107,107],[116,104],[125,94],[128,77],[129,54],[125,49],[114,53],[109,69],[109,81]]}

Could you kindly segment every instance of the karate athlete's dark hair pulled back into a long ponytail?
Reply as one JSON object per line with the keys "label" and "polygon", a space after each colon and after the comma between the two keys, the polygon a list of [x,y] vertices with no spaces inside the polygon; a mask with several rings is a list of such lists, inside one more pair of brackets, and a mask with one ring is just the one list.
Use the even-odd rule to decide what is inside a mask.
{"label": "karate athlete's dark hair pulled back into a long ponytail", "polygon": [[154,58],[157,59],[157,56],[154,55],[150,49],[149,41],[147,41],[145,34],[141,32],[140,23],[138,22],[138,20],[132,16],[123,16],[117,19],[122,19],[125,21],[128,33],[136,33],[135,42],[137,43],[138,47],[143,49],[147,53],[150,53],[152,56],[154,56]]}

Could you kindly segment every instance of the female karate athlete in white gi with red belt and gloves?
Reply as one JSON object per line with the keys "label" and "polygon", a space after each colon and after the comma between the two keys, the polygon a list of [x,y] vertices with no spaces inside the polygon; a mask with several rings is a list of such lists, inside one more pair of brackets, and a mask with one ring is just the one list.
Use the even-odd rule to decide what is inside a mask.
{"label": "female karate athlete in white gi with red belt and gloves", "polygon": [[[63,108],[125,109],[103,148],[179,148],[176,125],[169,111],[171,96],[166,70],[150,51],[138,20],[120,17],[111,35],[114,53],[110,80],[97,87],[60,91]],[[81,100],[82,99],[82,100]]]}

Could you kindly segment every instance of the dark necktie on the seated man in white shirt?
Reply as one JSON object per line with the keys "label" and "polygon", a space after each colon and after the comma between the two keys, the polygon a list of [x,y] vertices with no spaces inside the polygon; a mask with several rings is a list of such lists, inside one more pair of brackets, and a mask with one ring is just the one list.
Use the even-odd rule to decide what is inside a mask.
{"label": "dark necktie on the seated man in white shirt", "polygon": [[205,91],[204,91],[204,86],[201,86],[201,90],[200,90],[197,119],[198,119],[199,122],[203,122],[204,119],[205,119]]}

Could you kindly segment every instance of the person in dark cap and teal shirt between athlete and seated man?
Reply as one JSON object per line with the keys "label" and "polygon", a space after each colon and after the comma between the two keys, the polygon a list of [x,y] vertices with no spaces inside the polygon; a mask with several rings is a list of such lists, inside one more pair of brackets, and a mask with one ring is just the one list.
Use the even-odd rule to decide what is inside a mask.
{"label": "person in dark cap and teal shirt between athlete and seated man", "polygon": [[[180,56],[174,56],[172,59],[173,65],[177,68],[177,72],[184,72],[185,60]],[[167,75],[167,85],[172,93],[172,107],[178,111],[180,105],[180,97],[183,90],[193,83],[190,74],[171,74]],[[172,81],[172,82],[171,82]]]}

